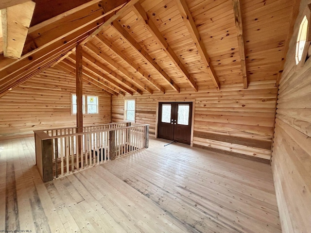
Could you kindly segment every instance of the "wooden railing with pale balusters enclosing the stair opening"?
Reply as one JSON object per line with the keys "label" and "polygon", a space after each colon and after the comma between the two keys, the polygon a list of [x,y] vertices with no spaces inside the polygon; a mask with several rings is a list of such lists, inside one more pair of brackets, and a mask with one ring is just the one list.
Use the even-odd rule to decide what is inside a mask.
{"label": "wooden railing with pale balusters enclosing the stair opening", "polygon": [[44,182],[148,148],[149,125],[128,122],[34,131],[36,165]]}

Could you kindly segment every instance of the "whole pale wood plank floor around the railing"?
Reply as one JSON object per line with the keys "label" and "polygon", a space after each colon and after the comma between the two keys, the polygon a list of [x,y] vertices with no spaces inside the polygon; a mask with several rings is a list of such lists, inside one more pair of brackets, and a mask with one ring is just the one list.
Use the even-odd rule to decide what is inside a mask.
{"label": "whole pale wood plank floor around the railing", "polygon": [[0,230],[281,232],[269,165],[166,143],[42,183],[33,138],[0,141]]}

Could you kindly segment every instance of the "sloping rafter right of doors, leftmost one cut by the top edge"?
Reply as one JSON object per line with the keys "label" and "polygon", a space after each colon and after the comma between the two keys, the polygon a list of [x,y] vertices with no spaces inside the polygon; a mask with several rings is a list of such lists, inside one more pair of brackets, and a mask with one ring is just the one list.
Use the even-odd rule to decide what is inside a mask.
{"label": "sloping rafter right of doors, leftmost one cut by the top edge", "polygon": [[202,61],[204,63],[204,65],[207,67],[207,71],[209,73],[209,76],[211,77],[215,87],[217,88],[217,90],[220,90],[220,85],[219,85],[219,81],[218,78],[216,76],[216,73],[213,69],[213,67],[210,65],[210,61],[209,61],[209,57],[207,55],[207,51],[206,48],[203,44],[203,41],[201,40],[201,36],[200,33],[198,32],[195,22],[191,16],[190,10],[187,6],[187,3],[185,0],[176,0],[179,12],[181,14],[181,17],[183,18],[188,31],[195,43],[195,46],[197,48],[197,50],[199,51]]}

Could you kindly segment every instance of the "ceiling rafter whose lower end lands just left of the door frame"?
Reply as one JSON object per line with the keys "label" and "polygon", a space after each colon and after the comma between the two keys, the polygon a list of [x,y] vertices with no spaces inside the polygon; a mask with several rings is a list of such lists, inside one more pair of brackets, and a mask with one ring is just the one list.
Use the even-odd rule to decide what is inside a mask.
{"label": "ceiling rafter whose lower end lands just left of the door frame", "polygon": [[126,69],[124,69],[122,66],[120,66],[117,62],[113,61],[111,58],[109,58],[107,55],[105,55],[101,50],[96,48],[92,43],[87,42],[86,47],[92,51],[93,53],[100,56],[106,63],[108,63],[110,66],[115,67],[118,69],[123,75],[125,75],[128,79],[132,80],[134,83],[136,83],[139,87],[143,88],[144,90],[148,91],[150,94],[153,93],[152,89],[150,89],[148,86],[146,86],[144,83],[142,83],[138,78],[134,77],[130,74]]}

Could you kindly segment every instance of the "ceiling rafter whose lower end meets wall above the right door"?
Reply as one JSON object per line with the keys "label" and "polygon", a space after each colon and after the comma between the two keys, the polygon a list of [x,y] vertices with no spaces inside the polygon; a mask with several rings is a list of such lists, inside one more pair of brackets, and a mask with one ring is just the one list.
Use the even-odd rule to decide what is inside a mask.
{"label": "ceiling rafter whose lower end meets wall above the right door", "polygon": [[178,93],[180,92],[179,86],[173,81],[173,79],[171,79],[171,77],[155,62],[149,53],[138,44],[138,42],[121,26],[117,20],[113,21],[111,25],[144,60],[146,60],[152,67],[155,68],[155,71],[157,71],[175,91]]}

